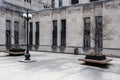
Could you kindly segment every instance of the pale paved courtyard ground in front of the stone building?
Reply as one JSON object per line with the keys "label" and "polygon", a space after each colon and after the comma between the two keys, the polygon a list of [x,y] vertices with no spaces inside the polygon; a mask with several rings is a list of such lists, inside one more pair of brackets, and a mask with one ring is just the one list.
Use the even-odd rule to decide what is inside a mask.
{"label": "pale paved courtyard ground in front of the stone building", "polygon": [[83,55],[30,52],[33,63],[22,63],[24,56],[0,52],[0,80],[120,80],[120,59],[107,66],[85,65]]}

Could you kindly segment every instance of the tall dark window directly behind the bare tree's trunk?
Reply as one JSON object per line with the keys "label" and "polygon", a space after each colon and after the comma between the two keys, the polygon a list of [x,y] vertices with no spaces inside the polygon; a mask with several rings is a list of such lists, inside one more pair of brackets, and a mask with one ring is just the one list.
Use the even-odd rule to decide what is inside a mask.
{"label": "tall dark window directly behind the bare tree's trunk", "polygon": [[95,29],[95,46],[103,47],[103,35],[102,35],[102,16],[95,17],[96,29]]}

